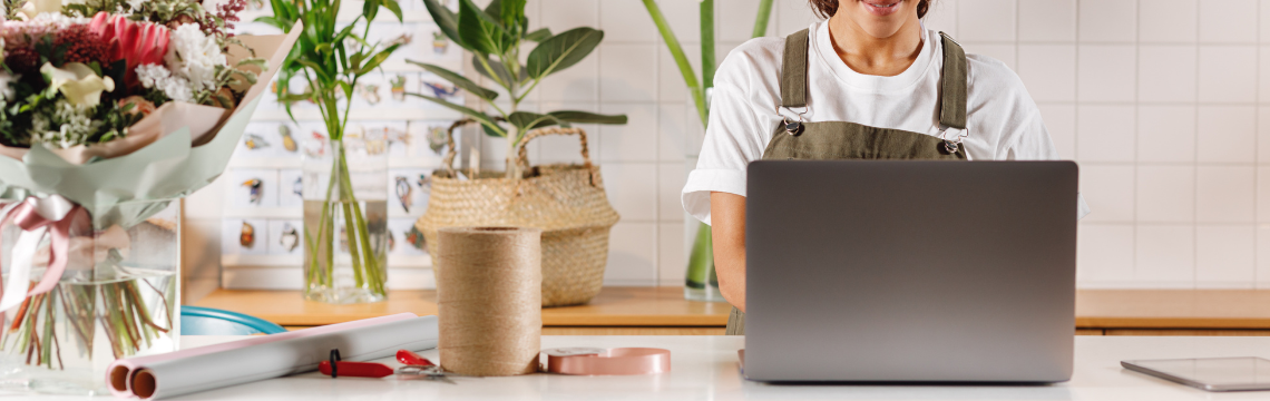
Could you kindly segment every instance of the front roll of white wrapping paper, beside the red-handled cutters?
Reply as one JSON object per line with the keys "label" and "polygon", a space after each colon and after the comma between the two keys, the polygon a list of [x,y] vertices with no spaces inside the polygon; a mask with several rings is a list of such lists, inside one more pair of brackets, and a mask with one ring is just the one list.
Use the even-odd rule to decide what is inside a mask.
{"label": "front roll of white wrapping paper, beside the red-handled cutters", "polygon": [[413,317],[149,363],[136,371],[131,390],[142,400],[160,400],[316,371],[333,349],[343,360],[366,362],[392,357],[399,349],[436,346],[437,317]]}

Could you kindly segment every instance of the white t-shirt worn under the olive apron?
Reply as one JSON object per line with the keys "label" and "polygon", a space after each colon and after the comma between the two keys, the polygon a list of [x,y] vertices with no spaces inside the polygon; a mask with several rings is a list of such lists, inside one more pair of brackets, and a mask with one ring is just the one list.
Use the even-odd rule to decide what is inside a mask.
{"label": "white t-shirt worn under the olive apron", "polygon": [[[810,32],[808,107],[803,121],[845,121],[941,135],[939,85],[944,48],[937,32],[926,32],[917,61],[895,76],[851,70],[833,49],[828,23],[814,23]],[[705,223],[710,223],[710,192],[744,197],[745,166],[763,157],[782,115],[798,119],[780,107],[784,52],[785,38],[757,38],[733,49],[719,66],[705,143],[697,168],[683,187],[683,208]],[[1058,159],[1040,109],[1019,75],[991,57],[966,55],[966,129],[947,128],[944,137],[952,140],[964,133],[964,147],[972,160]],[[1077,208],[1080,217],[1088,213],[1082,199]]]}

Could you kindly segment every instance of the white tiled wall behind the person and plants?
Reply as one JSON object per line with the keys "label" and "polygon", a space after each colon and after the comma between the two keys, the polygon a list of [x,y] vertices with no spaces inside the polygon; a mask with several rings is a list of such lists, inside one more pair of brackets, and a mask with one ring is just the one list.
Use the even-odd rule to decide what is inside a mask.
{"label": "white tiled wall behind the person and plants", "polygon": [[[697,1],[659,3],[697,55]],[[757,3],[716,1],[719,60],[748,39]],[[622,214],[606,283],[681,284],[678,194],[701,131],[643,3],[530,0],[528,14],[606,38],[526,109],[630,115],[585,127]],[[768,34],[812,20],[805,1],[777,0]],[[936,0],[926,23],[1015,69],[1062,156],[1080,161],[1093,208],[1080,227],[1082,287],[1270,287],[1270,225],[1259,226],[1270,222],[1270,0]],[[483,140],[483,165],[500,168],[505,142]],[[577,160],[575,140],[531,147],[537,162]]]}

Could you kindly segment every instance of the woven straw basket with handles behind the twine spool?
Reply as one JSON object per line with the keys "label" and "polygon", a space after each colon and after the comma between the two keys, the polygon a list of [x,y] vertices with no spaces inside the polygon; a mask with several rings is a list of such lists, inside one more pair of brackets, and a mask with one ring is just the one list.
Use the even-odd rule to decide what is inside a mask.
{"label": "woven straw basket with handles behind the twine spool", "polygon": [[[481,171],[458,179],[453,170],[453,128],[443,169],[432,175],[428,211],[415,222],[428,251],[437,254],[437,228],[512,226],[542,228],[542,306],[587,303],[599,293],[608,261],[608,230],[617,212],[608,204],[599,168],[591,162],[587,133],[580,128],[541,128],[521,141],[522,176],[507,179],[502,171]],[[525,146],[549,135],[577,135],[582,165],[528,166]],[[433,264],[436,269],[436,264]]]}

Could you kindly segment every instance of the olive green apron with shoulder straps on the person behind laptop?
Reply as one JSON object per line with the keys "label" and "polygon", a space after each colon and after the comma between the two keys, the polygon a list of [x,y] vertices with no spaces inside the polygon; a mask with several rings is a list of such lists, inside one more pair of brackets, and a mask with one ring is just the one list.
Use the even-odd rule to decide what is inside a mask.
{"label": "olive green apron with shoulder straps on the person behind laptop", "polygon": [[[781,67],[781,107],[798,113],[806,110],[808,30],[785,38]],[[776,128],[763,151],[763,160],[966,160],[965,137],[966,60],[965,52],[947,34],[944,43],[944,70],[940,72],[940,124],[963,129],[945,140],[925,133],[869,127],[851,122],[803,122],[786,118]],[[800,114],[801,115],[801,114]],[[745,312],[732,308],[728,335],[745,334]]]}

